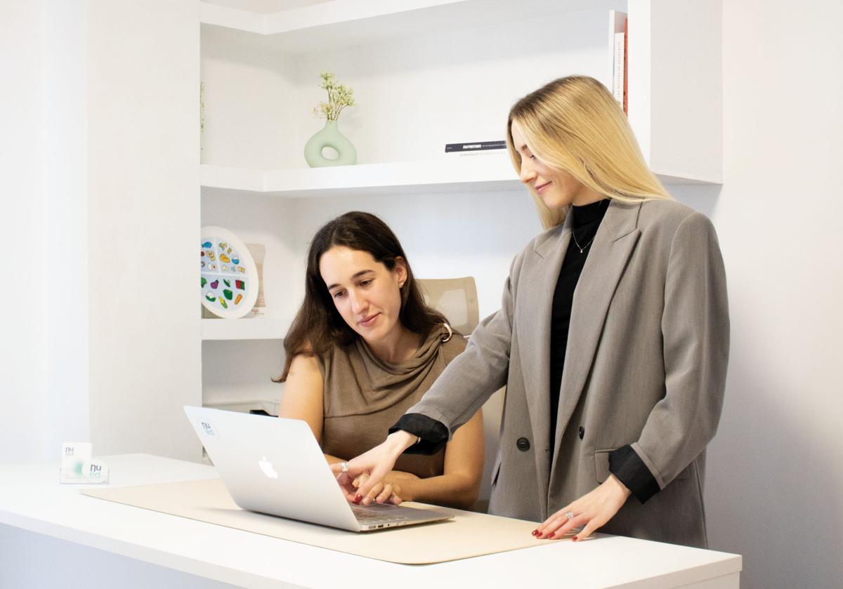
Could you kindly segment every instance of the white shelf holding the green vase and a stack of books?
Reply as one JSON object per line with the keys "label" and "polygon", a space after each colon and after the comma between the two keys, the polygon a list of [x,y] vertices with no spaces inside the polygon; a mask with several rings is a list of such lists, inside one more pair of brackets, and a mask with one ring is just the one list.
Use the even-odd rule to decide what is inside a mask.
{"label": "white shelf holding the green vase and a stack of books", "polygon": [[521,189],[507,153],[277,171],[202,165],[200,176],[206,189],[260,192],[284,198]]}

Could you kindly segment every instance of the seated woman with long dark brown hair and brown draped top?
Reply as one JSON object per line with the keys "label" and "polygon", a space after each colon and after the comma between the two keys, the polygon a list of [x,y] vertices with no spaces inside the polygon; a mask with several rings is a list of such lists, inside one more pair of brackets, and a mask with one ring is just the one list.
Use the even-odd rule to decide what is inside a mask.
{"label": "seated woman with long dark brown hair and brown draped top", "polygon": [[[342,463],[383,441],[464,347],[464,338],[424,303],[389,227],[374,215],[348,212],[310,244],[304,302],[284,340],[279,416],[307,421],[328,462]],[[399,458],[365,499],[470,509],[482,471],[478,411],[432,455]],[[357,477],[354,486],[367,478]]]}

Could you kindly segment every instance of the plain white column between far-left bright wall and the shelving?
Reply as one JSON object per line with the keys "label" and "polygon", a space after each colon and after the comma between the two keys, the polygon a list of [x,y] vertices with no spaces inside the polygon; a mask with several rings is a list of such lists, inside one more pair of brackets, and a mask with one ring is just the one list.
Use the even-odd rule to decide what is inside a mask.
{"label": "plain white column between far-left bright wall and the shelving", "polygon": [[199,3],[88,3],[94,453],[200,458]]}

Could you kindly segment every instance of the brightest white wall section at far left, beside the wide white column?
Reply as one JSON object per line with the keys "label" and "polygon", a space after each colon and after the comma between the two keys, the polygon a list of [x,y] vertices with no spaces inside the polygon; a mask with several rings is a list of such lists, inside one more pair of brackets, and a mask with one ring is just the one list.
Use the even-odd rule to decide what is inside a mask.
{"label": "brightest white wall section at far left, beside the wide white column", "polygon": [[87,440],[85,6],[0,3],[0,462]]}

